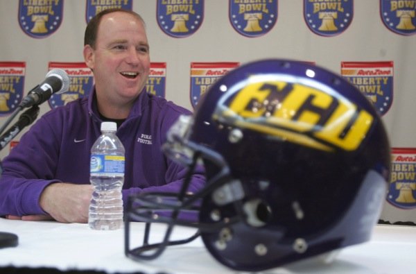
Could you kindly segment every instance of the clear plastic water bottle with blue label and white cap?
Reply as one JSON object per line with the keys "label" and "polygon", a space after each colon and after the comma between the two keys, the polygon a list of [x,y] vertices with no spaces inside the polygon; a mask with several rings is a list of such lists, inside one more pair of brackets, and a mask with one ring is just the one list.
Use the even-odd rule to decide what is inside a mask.
{"label": "clear plastic water bottle with blue label and white cap", "polygon": [[94,230],[116,230],[123,225],[124,146],[114,122],[101,123],[101,136],[91,148],[90,182],[94,186],[88,223]]}

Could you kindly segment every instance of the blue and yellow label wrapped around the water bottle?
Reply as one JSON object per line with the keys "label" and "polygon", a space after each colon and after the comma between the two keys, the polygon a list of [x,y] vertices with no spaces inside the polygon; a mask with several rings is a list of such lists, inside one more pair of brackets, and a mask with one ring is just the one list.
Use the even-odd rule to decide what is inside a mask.
{"label": "blue and yellow label wrapped around the water bottle", "polygon": [[94,175],[124,175],[124,156],[91,155],[89,171]]}

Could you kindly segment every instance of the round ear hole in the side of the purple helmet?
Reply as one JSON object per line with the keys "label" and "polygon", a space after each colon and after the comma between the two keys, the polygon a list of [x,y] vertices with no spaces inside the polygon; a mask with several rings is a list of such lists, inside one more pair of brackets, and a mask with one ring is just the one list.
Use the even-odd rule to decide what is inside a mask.
{"label": "round ear hole in the side of the purple helmet", "polygon": [[270,206],[260,199],[248,200],[243,205],[243,210],[246,214],[246,221],[248,225],[256,228],[262,227],[268,223],[272,210]]}

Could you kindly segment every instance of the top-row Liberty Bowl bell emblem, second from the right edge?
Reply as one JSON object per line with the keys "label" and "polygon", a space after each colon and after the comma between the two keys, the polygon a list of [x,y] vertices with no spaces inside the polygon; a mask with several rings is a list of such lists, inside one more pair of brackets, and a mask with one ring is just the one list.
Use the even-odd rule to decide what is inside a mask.
{"label": "top-row Liberty Bowl bell emblem, second from the right edge", "polygon": [[304,20],[321,36],[343,33],[352,22],[353,0],[304,0]]}

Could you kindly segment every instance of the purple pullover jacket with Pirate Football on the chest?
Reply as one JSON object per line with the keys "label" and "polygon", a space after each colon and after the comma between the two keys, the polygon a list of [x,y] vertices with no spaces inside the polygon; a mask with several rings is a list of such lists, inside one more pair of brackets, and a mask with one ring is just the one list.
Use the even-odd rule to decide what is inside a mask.
{"label": "purple pullover jacket with Pirate Football on the chest", "polygon": [[[125,147],[123,204],[128,195],[146,191],[179,191],[187,168],[161,150],[166,132],[180,114],[191,114],[165,99],[141,92],[116,135]],[[0,216],[46,214],[39,205],[42,190],[53,182],[89,184],[89,157],[100,132],[95,91],[44,114],[3,160]],[[205,184],[193,175],[189,191]]]}

